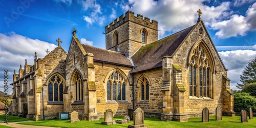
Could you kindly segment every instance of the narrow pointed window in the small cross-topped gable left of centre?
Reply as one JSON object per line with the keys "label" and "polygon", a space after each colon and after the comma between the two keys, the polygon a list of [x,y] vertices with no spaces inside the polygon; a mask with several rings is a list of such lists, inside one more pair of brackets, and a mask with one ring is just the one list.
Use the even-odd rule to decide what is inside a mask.
{"label": "narrow pointed window in the small cross-topped gable left of centre", "polygon": [[73,78],[73,83],[75,85],[75,100],[83,100],[82,76],[79,72],[76,72]]}

